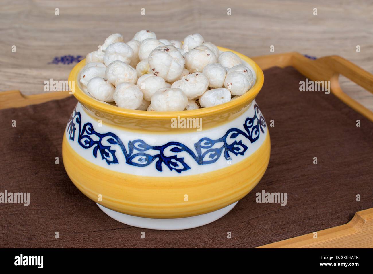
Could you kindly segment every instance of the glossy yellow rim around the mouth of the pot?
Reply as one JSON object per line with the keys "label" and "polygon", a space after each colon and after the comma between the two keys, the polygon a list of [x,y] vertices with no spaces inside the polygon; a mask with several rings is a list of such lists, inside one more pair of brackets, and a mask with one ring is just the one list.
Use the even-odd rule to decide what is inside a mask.
{"label": "glossy yellow rim around the mouth of the pot", "polygon": [[102,111],[105,113],[115,114],[116,116],[120,117],[127,117],[127,118],[141,118],[146,120],[164,120],[164,119],[171,119],[176,116],[180,116],[183,118],[188,117],[205,117],[211,116],[214,114],[220,114],[222,112],[233,111],[237,109],[242,109],[243,107],[249,105],[254,98],[259,93],[260,89],[263,86],[264,82],[264,75],[261,68],[255,63],[252,59],[245,56],[244,54],[238,53],[236,51],[230,50],[228,48],[217,47],[220,51],[231,51],[237,54],[242,60],[247,62],[256,73],[256,82],[255,84],[244,94],[241,95],[239,98],[235,100],[231,100],[228,103],[224,103],[221,105],[216,105],[214,107],[207,107],[207,108],[200,108],[198,110],[188,110],[188,111],[145,111],[145,110],[131,110],[126,108],[120,108],[115,105],[104,104],[100,101],[88,96],[85,94],[84,91],[78,85],[79,82],[79,72],[82,67],[85,66],[85,59],[81,62],[76,64],[69,74],[69,83],[74,83],[74,97],[83,105],[93,108],[98,111]]}

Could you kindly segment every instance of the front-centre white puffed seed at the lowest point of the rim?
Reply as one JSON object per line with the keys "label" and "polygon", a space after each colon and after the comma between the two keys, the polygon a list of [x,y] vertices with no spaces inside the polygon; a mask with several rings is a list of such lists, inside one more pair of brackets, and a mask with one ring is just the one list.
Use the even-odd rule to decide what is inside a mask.
{"label": "front-centre white puffed seed at the lowest point of the rim", "polygon": [[188,104],[188,97],[179,88],[161,88],[153,97],[150,105],[155,111],[182,111]]}

